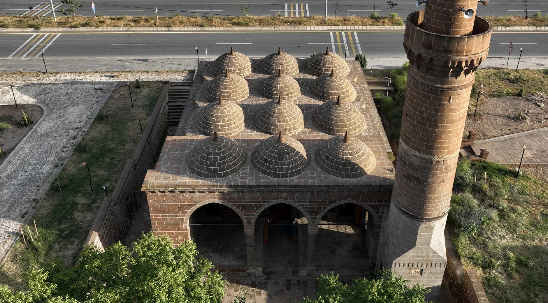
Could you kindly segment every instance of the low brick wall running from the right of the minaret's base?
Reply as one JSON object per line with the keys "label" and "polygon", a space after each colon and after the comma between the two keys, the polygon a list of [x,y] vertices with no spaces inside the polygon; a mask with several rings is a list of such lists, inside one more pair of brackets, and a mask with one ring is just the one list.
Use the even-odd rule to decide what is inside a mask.
{"label": "low brick wall running from the right of the minaret's base", "polygon": [[475,270],[465,270],[456,254],[455,246],[446,231],[447,266],[443,279],[447,281],[457,303],[489,303]]}

